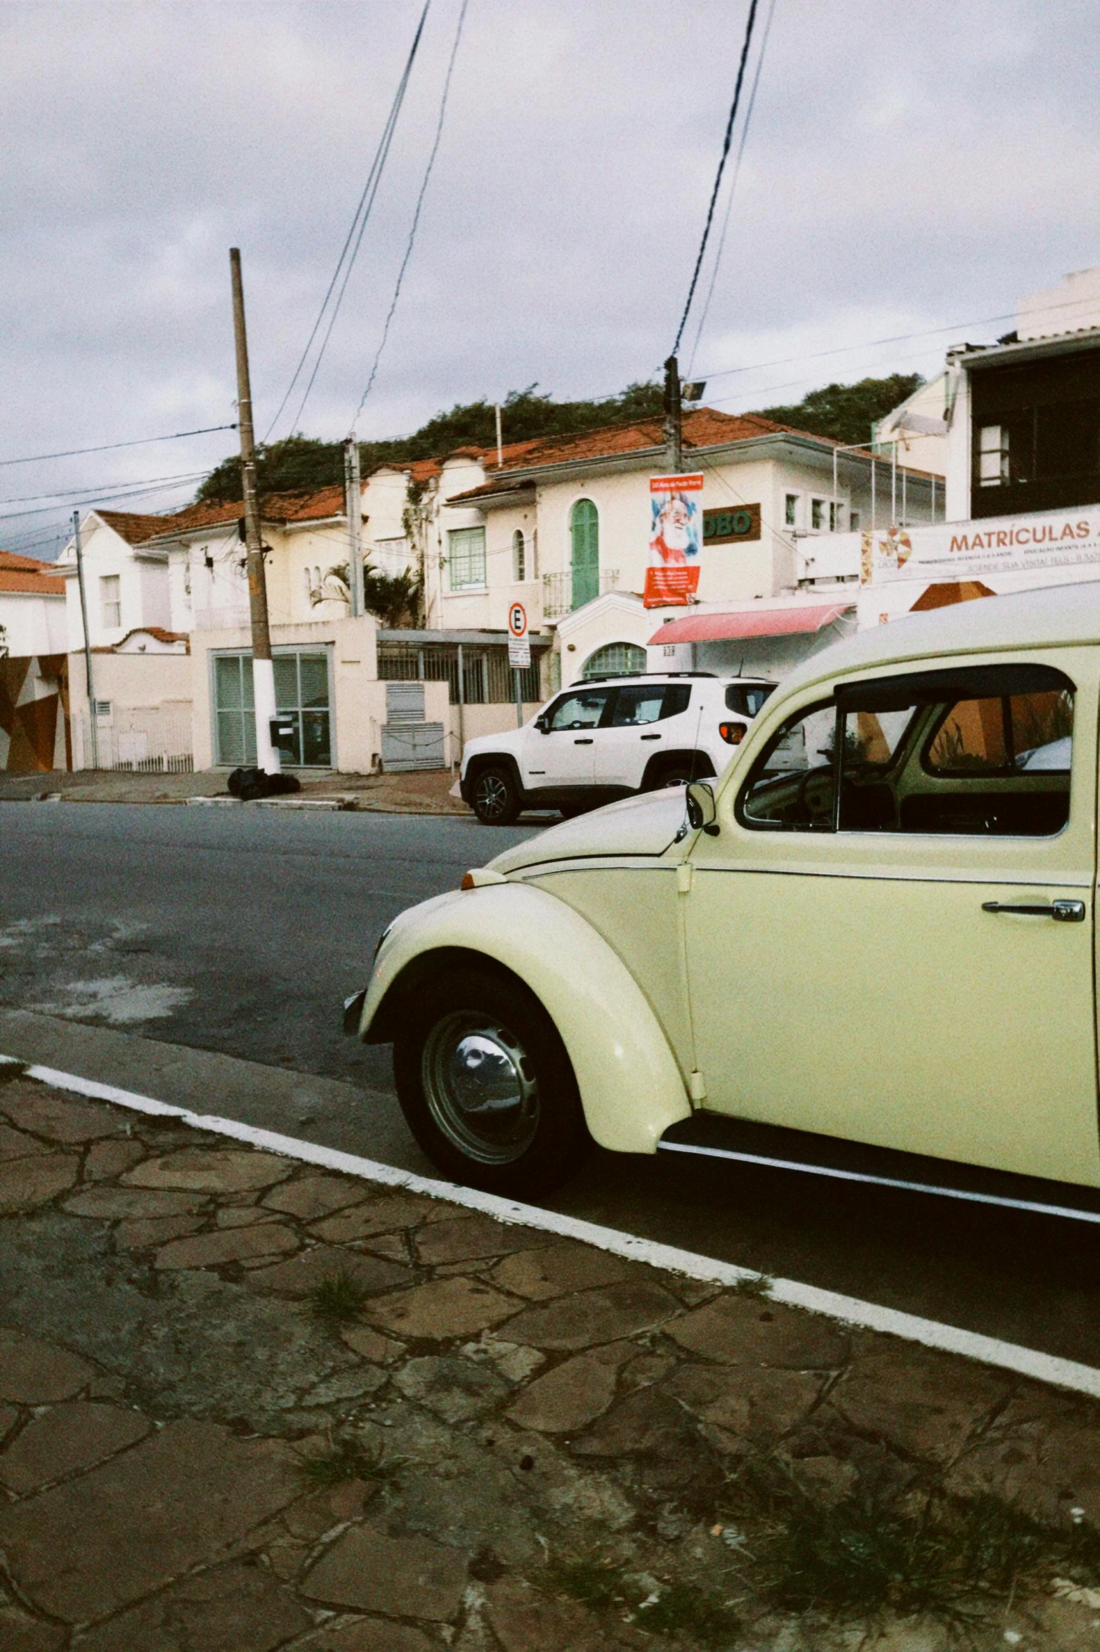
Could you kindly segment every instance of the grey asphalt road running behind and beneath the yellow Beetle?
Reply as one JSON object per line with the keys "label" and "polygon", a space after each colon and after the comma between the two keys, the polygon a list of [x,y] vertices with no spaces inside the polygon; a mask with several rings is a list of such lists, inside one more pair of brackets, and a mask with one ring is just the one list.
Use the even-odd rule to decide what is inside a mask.
{"label": "grey asphalt road running behind and beneath the yellow Beetle", "polygon": [[[301,1115],[297,1133],[423,1170],[390,1052],[344,1039],[340,1003],[396,912],[529,831],[0,803],[0,1006],[353,1084],[350,1122]],[[287,1127],[258,1105],[249,1122]],[[1100,1365],[1097,1227],[674,1155],[595,1153],[550,1203]]]}

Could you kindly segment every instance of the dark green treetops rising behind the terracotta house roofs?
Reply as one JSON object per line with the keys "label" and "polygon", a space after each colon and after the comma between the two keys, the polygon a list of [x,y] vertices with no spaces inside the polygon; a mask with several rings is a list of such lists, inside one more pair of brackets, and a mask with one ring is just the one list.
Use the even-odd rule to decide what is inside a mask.
{"label": "dark green treetops rising behind the terracotta house roofs", "polygon": [[[765,418],[796,425],[818,436],[856,443],[870,439],[870,425],[922,385],[920,373],[890,373],[889,378],[861,378],[857,385],[824,385],[788,406],[756,408]],[[662,411],[661,385],[628,385],[601,401],[555,401],[540,395],[538,385],[512,390],[504,401],[504,439],[527,441],[533,436],[570,436],[605,425],[626,425],[638,418],[654,418]],[[456,448],[491,448],[495,441],[495,413],[491,401],[456,403],[449,413],[436,413],[411,436],[393,441],[360,443],[360,466],[368,476],[378,464],[431,459]],[[330,487],[344,481],[344,443],[320,441],[294,434],[256,451],[256,472],[263,494]],[[241,497],[241,463],[230,454],[200,486],[198,501],[231,504]]]}

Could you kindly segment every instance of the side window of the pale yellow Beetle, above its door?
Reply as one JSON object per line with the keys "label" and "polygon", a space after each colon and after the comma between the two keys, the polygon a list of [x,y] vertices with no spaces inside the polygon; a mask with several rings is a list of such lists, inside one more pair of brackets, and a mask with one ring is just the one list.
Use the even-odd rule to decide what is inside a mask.
{"label": "side window of the pale yellow Beetle, above its door", "polygon": [[842,682],[768,742],[737,814],[756,831],[1047,838],[1070,808],[1074,684],[1050,666]]}

